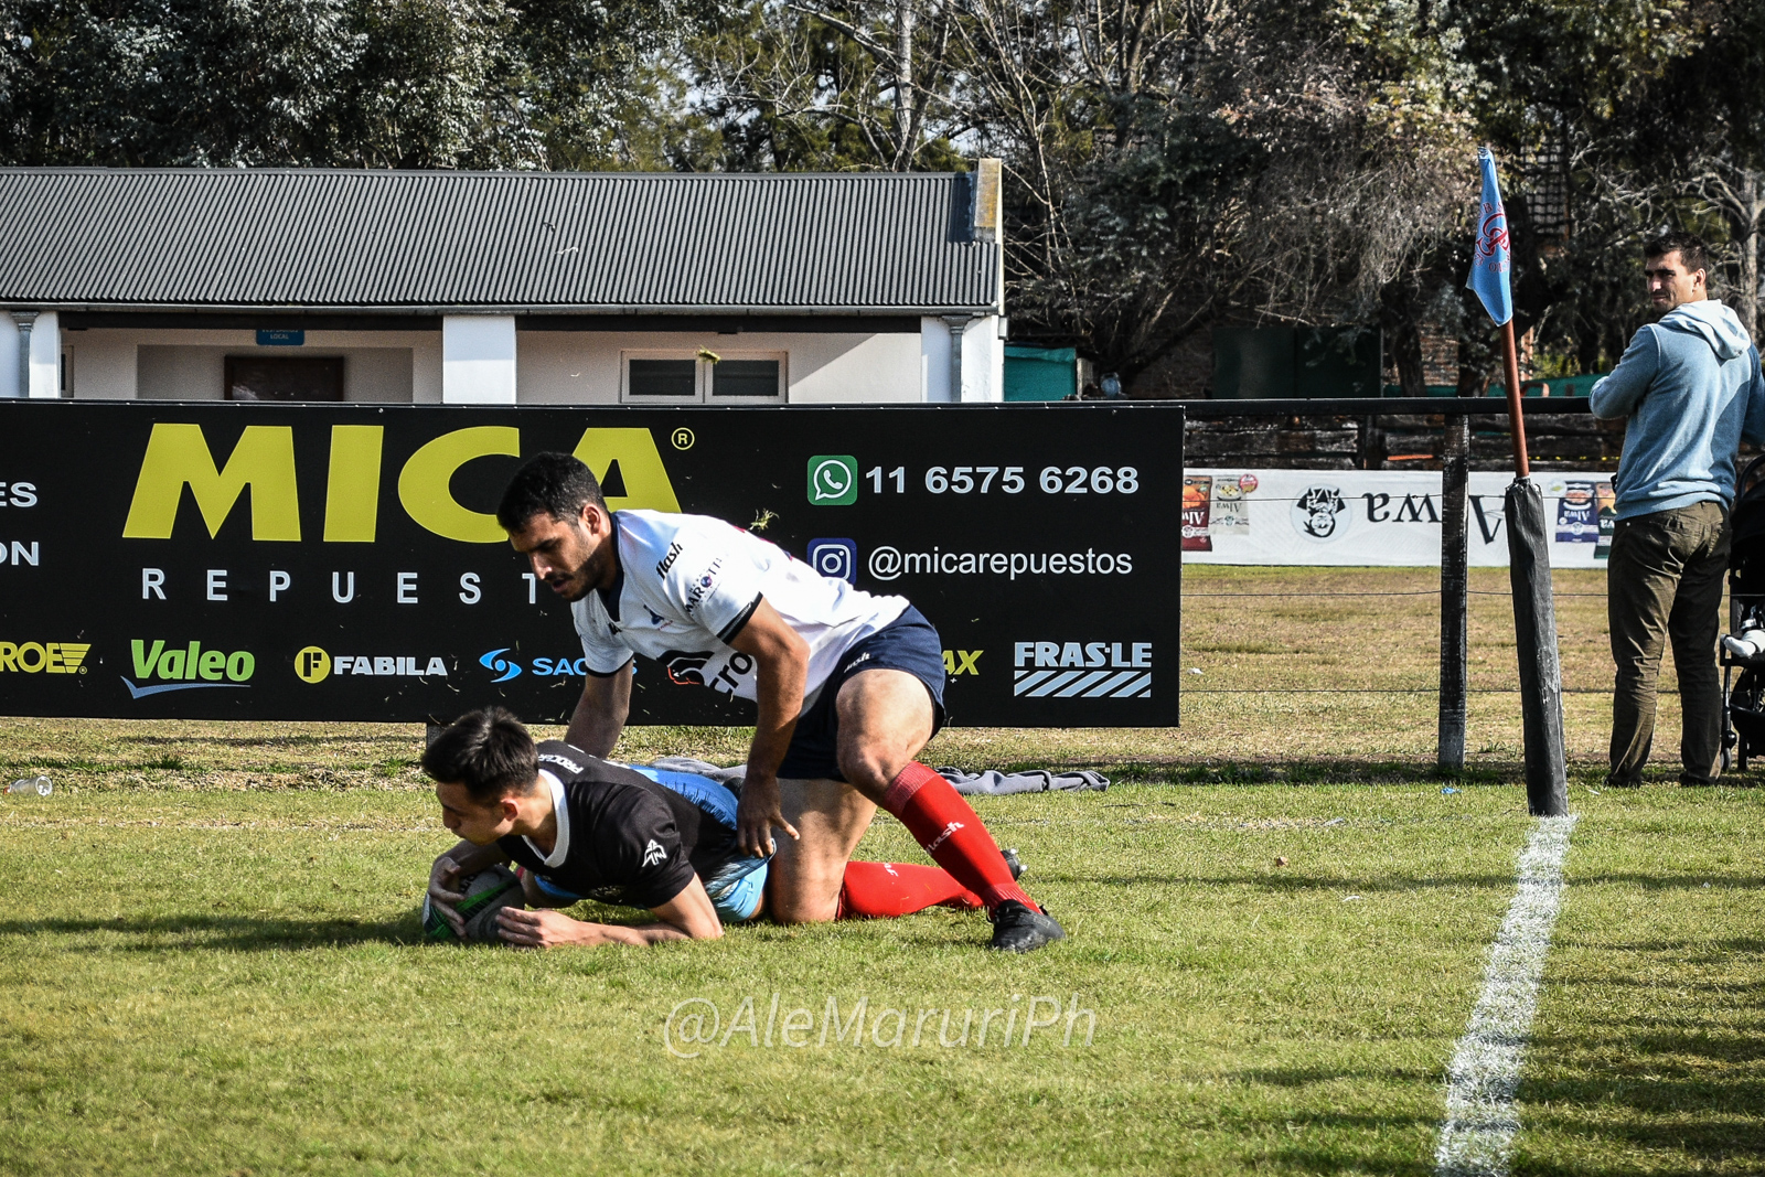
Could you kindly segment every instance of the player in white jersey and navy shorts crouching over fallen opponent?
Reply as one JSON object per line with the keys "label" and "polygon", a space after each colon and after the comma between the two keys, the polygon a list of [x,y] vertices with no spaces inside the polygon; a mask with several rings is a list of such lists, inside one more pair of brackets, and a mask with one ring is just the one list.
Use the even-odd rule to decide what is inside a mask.
{"label": "player in white jersey and navy shorts crouching over fallen opponent", "polygon": [[[588,681],[568,743],[612,753],[630,711],[632,655],[676,681],[754,701],[736,828],[747,854],[773,856],[773,919],[837,918],[845,861],[881,805],[983,900],[994,948],[1027,953],[1064,939],[969,803],[914,759],[943,725],[944,660],[937,632],[905,598],[822,577],[720,519],[611,512],[595,475],[567,454],[522,466],[496,519],[572,603]],[[789,836],[775,842],[775,829]]]}

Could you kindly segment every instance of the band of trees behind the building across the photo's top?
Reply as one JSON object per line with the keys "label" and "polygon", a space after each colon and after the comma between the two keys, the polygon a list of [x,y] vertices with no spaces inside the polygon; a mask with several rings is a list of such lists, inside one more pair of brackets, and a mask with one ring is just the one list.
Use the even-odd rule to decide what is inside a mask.
{"label": "band of trees behind the building across the photo's top", "polygon": [[1375,321],[1407,385],[1446,330],[1481,385],[1479,143],[1541,353],[1622,353],[1663,224],[1703,231],[1758,312],[1758,0],[0,0],[5,164],[999,155],[1018,332],[1142,392],[1262,321]]}

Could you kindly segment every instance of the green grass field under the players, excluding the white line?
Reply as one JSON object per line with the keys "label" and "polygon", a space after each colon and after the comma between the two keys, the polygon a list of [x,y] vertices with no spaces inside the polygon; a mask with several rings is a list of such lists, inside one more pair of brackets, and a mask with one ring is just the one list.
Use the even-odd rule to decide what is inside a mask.
{"label": "green grass field under the players, excluding the white line", "polygon": [[[941,736],[937,762],[1117,782],[981,801],[1071,933],[1025,958],[943,911],[658,949],[425,946],[415,902],[450,838],[417,729],[0,722],[5,769],[60,785],[0,799],[0,1172],[1431,1173],[1528,831],[1507,602],[1474,598],[1484,690],[1442,792],[1433,697],[1398,693],[1431,685],[1431,598],[1315,596],[1430,582],[1191,570],[1197,593],[1306,596],[1186,602],[1183,729]],[[1558,607],[1569,690],[1601,690],[1603,602]],[[1569,699],[1581,822],[1514,1172],[1765,1172],[1765,796],[1604,791],[1608,702]],[[732,762],[743,739],[634,731],[621,752]],[[860,854],[921,859],[888,819]],[[768,1045],[775,993],[805,1046]],[[861,999],[865,1045],[833,1041]],[[1024,1045],[1034,999],[1063,1008]],[[685,1043],[711,1006],[720,1032]],[[1089,1045],[1087,1016],[1063,1041],[1075,1008]],[[988,1043],[937,1045],[943,1011],[957,1039],[971,1009],[976,1031],[1003,1011]]]}

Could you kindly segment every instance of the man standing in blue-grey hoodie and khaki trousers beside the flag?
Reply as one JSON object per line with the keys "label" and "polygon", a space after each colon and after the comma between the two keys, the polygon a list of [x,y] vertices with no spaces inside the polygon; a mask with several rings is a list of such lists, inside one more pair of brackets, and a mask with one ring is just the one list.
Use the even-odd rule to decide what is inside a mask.
{"label": "man standing in blue-grey hoodie and khaki trousers beside the flag", "polygon": [[1716,632],[1735,455],[1742,438],[1765,441],[1765,379],[1747,326],[1709,296],[1703,242],[1668,233],[1649,242],[1643,258],[1649,300],[1664,314],[1636,332],[1592,392],[1594,416],[1627,418],[1611,480],[1619,517],[1606,566],[1619,665],[1606,783],[1641,783],[1661,651],[1671,641],[1682,711],[1679,782],[1709,785],[1721,773]]}

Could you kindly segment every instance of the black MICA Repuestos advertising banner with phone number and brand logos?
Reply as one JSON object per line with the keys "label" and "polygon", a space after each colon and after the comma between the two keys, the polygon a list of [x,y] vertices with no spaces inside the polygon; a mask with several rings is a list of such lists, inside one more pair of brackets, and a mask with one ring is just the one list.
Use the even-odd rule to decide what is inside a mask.
{"label": "black MICA Repuestos advertising banner with phone number and brand logos", "polygon": [[[937,626],[951,722],[1177,722],[1179,406],[0,402],[0,713],[563,722],[567,602],[494,510],[575,454]],[[750,723],[699,655],[632,723]]]}

